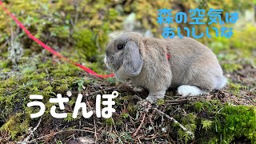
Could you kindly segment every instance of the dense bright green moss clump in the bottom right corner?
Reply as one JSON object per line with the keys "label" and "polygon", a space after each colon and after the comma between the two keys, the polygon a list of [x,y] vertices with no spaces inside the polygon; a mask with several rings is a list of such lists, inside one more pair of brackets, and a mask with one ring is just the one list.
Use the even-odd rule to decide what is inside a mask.
{"label": "dense bright green moss clump in the bottom right corner", "polygon": [[256,108],[255,106],[227,105],[218,114],[217,130],[219,142],[230,143],[234,138],[245,137],[252,143],[256,141]]}

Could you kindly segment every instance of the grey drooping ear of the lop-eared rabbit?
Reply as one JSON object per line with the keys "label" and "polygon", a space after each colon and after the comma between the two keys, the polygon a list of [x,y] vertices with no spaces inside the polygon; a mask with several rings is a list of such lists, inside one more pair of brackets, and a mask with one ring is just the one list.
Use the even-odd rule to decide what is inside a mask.
{"label": "grey drooping ear of the lop-eared rabbit", "polygon": [[125,73],[129,76],[136,76],[142,70],[142,55],[139,53],[138,45],[134,41],[129,41],[125,46],[123,66]]}

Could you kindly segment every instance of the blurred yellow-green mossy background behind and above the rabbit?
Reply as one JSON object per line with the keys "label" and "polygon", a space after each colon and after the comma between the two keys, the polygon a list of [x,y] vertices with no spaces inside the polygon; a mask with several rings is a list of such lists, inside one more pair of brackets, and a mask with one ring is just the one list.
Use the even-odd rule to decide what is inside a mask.
{"label": "blurred yellow-green mossy background behind and above the rabbit", "polygon": [[[74,59],[79,58],[79,62],[82,59],[86,62],[98,62],[100,60],[97,59],[98,55],[104,53],[106,42],[108,42],[108,34],[115,30],[126,29],[123,22],[129,14],[135,14],[132,30],[140,32],[150,30],[155,37],[161,38],[162,26],[157,23],[157,14],[158,9],[163,7],[174,10],[173,14],[184,11],[188,15],[190,9],[198,7],[208,11],[212,7],[223,9],[223,18],[226,12],[232,11],[240,12],[239,18],[243,18],[245,10],[252,10],[254,5],[250,0],[150,2],[146,0],[24,0],[6,1],[6,3],[6,6],[29,28],[32,34],[54,47],[55,50],[72,50]],[[16,31],[15,39],[21,42],[25,49],[42,51],[42,48],[19,30],[6,14],[0,15],[0,21],[1,45],[10,41],[11,29],[13,29]],[[133,22],[133,20],[130,21]],[[185,25],[191,27],[188,22]],[[176,27],[177,24],[174,23],[171,26]],[[181,25],[181,27],[184,26]],[[197,30],[205,31],[205,26],[198,26]],[[230,48],[252,50],[255,46],[254,32],[255,26],[244,22],[240,28],[234,28],[234,36],[230,39],[204,37],[199,41],[206,43],[216,53]]]}

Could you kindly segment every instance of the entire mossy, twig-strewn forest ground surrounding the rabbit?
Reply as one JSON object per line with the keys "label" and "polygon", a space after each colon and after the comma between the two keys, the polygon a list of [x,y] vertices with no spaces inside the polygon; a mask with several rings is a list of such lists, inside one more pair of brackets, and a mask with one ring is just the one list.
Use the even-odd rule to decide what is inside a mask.
{"label": "entire mossy, twig-strewn forest ground surrounding the rabbit", "polygon": [[[180,6],[168,1],[145,0],[142,2],[145,6],[137,1],[115,2],[6,1],[5,5],[47,46],[98,74],[106,74],[102,62],[104,48],[110,32],[123,29],[127,14],[136,14],[134,23],[141,23],[136,29],[152,30],[158,35],[154,36],[160,38],[162,28],[156,22],[156,8]],[[188,6],[193,3],[194,8],[199,3],[207,5],[199,1],[182,3]],[[222,3],[216,8],[219,6]],[[225,9],[228,10],[228,5]],[[118,82],[115,78],[102,79],[86,74],[43,50],[16,27],[9,16],[1,14],[0,20],[1,144],[256,144],[256,28],[246,21],[243,29],[234,28],[237,31],[232,38],[198,39],[214,51],[229,79],[223,90],[200,97],[182,97],[176,90],[167,90],[164,99],[150,104],[143,100],[148,95],[146,90],[134,91],[129,83]],[[111,118],[97,118],[95,114],[83,118],[81,110],[78,118],[72,117],[79,93],[87,109],[95,112],[97,94],[111,94],[114,90],[119,95],[114,98],[116,111]],[[66,96],[67,92],[72,96]],[[39,118],[30,118],[30,114],[39,110],[38,106],[27,106],[34,101],[30,94],[43,96],[40,101],[46,110]],[[65,110],[57,110],[67,113],[66,118],[54,118],[50,114],[51,107],[58,107],[58,103],[50,103],[49,99],[56,98],[57,94],[69,98]]]}

